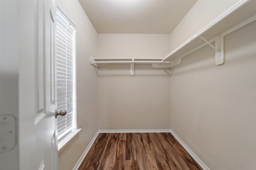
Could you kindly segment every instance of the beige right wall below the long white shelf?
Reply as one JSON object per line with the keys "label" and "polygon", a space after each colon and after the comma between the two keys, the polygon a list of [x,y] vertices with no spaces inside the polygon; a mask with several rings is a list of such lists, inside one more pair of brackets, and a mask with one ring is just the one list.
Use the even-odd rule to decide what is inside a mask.
{"label": "beige right wall below the long white shelf", "polygon": [[256,169],[256,22],[172,68],[171,128],[211,170]]}

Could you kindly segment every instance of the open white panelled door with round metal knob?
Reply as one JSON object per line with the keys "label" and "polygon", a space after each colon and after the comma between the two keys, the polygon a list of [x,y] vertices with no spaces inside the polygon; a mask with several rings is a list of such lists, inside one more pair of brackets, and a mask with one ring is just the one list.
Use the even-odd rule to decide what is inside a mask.
{"label": "open white panelled door with round metal knob", "polygon": [[19,1],[20,170],[57,170],[54,0]]}

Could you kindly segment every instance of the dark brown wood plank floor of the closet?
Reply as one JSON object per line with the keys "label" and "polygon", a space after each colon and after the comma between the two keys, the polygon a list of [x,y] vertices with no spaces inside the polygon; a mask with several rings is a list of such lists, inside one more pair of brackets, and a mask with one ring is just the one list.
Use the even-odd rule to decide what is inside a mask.
{"label": "dark brown wood plank floor of the closet", "polygon": [[171,133],[100,133],[78,170],[202,170]]}

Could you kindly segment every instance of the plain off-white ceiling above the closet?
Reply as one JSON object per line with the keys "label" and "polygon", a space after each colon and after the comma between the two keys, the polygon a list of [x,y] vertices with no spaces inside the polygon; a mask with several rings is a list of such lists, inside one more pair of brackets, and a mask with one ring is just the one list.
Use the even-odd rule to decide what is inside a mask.
{"label": "plain off-white ceiling above the closet", "polygon": [[98,33],[171,33],[196,0],[79,0]]}

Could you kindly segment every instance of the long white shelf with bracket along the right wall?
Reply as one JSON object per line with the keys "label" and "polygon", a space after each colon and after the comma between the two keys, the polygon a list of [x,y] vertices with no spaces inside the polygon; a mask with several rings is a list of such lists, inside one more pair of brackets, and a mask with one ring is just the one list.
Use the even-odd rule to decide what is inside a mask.
{"label": "long white shelf with bracket along the right wall", "polygon": [[240,0],[182,45],[168,54],[162,61],[174,61],[215,41],[216,65],[224,63],[224,36],[256,20],[256,1]]}

